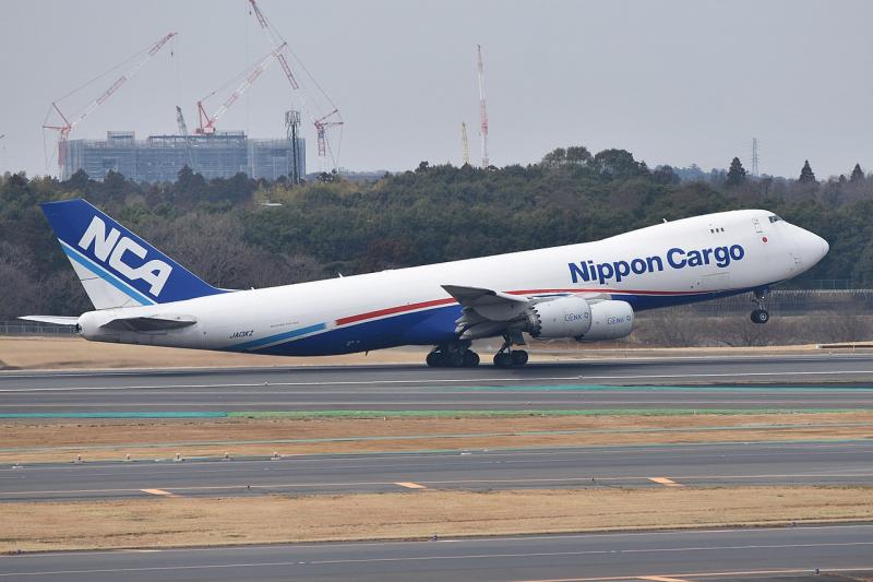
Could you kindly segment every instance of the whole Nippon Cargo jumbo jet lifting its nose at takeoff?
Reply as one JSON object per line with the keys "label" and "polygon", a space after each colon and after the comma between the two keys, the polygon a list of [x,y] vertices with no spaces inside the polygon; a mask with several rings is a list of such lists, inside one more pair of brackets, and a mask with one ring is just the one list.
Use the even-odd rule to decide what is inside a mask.
{"label": "whole Nippon Cargo jumbo jet lifting its nose at takeoff", "polygon": [[816,264],[827,242],[764,210],[663,222],[595,242],[261,289],[214,287],[84,200],[41,205],[94,304],[75,325],[96,342],[321,356],[434,346],[430,366],[527,363],[525,335],[615,340],[634,313],[752,293],[766,323],[770,286]]}

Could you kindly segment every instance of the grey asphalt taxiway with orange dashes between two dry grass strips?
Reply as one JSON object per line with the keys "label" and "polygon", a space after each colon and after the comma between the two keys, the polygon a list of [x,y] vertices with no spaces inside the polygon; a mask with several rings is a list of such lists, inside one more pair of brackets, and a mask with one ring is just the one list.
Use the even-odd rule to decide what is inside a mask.
{"label": "grey asphalt taxiway with orange dashes between two dry grass strips", "polygon": [[[0,502],[435,489],[873,485],[873,442],[761,442],[279,460],[40,464],[0,470]],[[412,488],[410,488],[410,486]],[[670,485],[672,486],[672,485]],[[0,506],[1,507],[1,506]]]}

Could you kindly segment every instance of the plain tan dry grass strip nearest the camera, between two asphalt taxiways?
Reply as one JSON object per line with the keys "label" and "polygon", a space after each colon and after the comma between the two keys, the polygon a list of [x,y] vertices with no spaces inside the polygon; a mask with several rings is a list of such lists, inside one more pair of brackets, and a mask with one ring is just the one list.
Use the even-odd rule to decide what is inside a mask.
{"label": "plain tan dry grass strip nearest the camera, between two asphalt taxiways", "polygon": [[3,503],[0,550],[709,527],[873,519],[863,487],[416,491]]}

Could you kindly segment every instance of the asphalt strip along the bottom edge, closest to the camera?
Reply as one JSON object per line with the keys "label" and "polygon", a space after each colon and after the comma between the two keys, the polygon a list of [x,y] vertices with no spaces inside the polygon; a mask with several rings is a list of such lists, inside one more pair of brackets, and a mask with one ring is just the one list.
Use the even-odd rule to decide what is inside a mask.
{"label": "asphalt strip along the bottom edge, closest to the camera", "polygon": [[[815,575],[815,569],[822,575]],[[85,551],[0,557],[0,579],[851,580],[873,570],[873,525],[429,542]],[[828,575],[828,574],[835,575]],[[860,577],[860,574],[859,574]]]}

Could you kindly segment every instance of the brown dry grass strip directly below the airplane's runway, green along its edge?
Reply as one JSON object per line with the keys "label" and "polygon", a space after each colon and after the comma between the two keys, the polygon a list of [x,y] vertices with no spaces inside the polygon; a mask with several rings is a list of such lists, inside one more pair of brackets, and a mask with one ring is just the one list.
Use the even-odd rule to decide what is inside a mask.
{"label": "brown dry grass strip directly below the airplane's runway, green along its edge", "polygon": [[[546,433],[549,431],[552,433]],[[569,433],[560,433],[562,431]],[[408,438],[421,436],[427,438]],[[373,437],[380,439],[364,440]],[[125,454],[132,459],[169,458],[177,452],[183,456],[217,456],[225,452],[237,456],[268,455],[274,451],[291,455],[845,438],[873,438],[873,412],[737,416],[4,420],[0,424],[0,449],[19,450],[0,451],[0,463],[71,461],[76,454],[82,454],[85,461],[96,461],[121,460]],[[276,442],[302,439],[347,440]]]}

